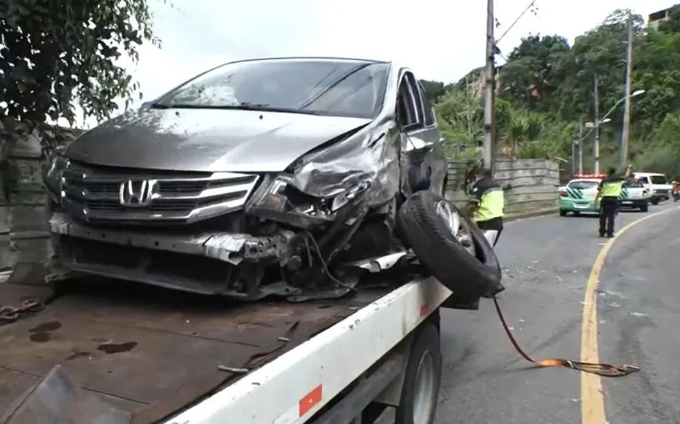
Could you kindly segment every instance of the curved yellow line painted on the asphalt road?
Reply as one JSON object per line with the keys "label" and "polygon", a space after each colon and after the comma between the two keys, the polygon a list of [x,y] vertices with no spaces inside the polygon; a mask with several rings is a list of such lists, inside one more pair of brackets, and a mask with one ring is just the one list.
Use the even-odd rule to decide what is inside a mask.
{"label": "curved yellow line painted on the asphalt road", "polygon": [[[614,242],[635,224],[639,224],[644,220],[654,218],[655,216],[667,213],[670,211],[677,211],[679,208],[665,209],[657,213],[645,215],[639,220],[635,220],[627,224],[622,229],[610,238],[602,247],[593,262],[593,267],[588,277],[588,282],[585,288],[585,300],[583,302],[583,323],[581,324],[581,358],[582,362],[598,363],[600,362],[598,352],[598,337],[597,337],[597,288],[600,283],[600,273],[605,264],[607,253],[612,249]],[[582,424],[606,424],[607,418],[605,416],[605,398],[602,393],[602,380],[600,376],[589,374],[587,372],[580,373],[581,375],[581,423]]]}

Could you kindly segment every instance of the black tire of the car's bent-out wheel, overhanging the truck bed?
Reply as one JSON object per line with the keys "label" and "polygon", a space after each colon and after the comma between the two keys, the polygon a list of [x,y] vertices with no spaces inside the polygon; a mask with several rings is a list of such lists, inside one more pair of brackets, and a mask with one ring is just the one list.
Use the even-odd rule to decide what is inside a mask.
{"label": "black tire of the car's bent-out wheel, overhanging the truck bed", "polygon": [[502,290],[500,265],[487,238],[470,218],[448,202],[469,227],[477,252],[475,258],[437,214],[437,204],[441,201],[448,202],[431,191],[418,191],[408,197],[397,217],[400,237],[457,299],[473,302],[487,293]]}

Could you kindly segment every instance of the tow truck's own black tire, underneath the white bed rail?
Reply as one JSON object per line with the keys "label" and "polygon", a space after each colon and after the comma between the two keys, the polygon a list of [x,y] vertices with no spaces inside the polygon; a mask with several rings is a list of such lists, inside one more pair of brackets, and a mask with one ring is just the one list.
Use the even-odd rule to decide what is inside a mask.
{"label": "tow truck's own black tire, underneath the white bed rail", "polygon": [[[431,367],[431,379],[429,388],[431,389],[429,396],[427,396],[428,387],[424,387],[423,392],[419,380],[419,365],[424,361],[425,367]],[[422,376],[423,374],[420,374]],[[435,421],[435,412],[437,410],[437,398],[439,398],[440,383],[442,380],[442,346],[440,341],[440,333],[437,327],[431,322],[423,324],[417,330],[413,345],[411,345],[410,355],[408,356],[408,363],[406,364],[406,372],[404,373],[404,385],[402,387],[402,395],[399,398],[399,407],[395,414],[395,424],[432,424]],[[422,396],[429,398],[428,418],[425,420],[415,421],[414,412],[419,399]]]}

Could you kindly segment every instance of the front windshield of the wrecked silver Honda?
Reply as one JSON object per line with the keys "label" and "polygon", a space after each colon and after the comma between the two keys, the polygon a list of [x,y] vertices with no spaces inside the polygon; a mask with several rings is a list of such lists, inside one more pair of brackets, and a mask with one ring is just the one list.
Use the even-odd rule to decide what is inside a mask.
{"label": "front windshield of the wrecked silver Honda", "polygon": [[375,117],[388,64],[333,60],[241,61],[196,77],[154,106],[270,108],[286,112]]}

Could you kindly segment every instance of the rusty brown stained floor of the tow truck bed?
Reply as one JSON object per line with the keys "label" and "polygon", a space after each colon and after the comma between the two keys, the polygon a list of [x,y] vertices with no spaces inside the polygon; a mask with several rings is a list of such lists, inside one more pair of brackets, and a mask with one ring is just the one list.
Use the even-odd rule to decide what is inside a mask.
{"label": "rusty brown stained floor of the tow truck bed", "polygon": [[[3,305],[27,299],[46,304],[32,316],[0,326],[0,416],[60,365],[91,395],[82,398],[84,403],[114,405],[132,414],[133,424],[155,423],[242,375],[218,366],[260,367],[389,291],[367,290],[325,302],[227,305],[223,298],[207,302],[111,281],[55,293],[40,276],[39,267],[22,264],[0,284]],[[102,409],[91,413],[94,417]],[[12,418],[8,422],[37,423]],[[73,421],[59,418],[95,422],[82,415]]]}

